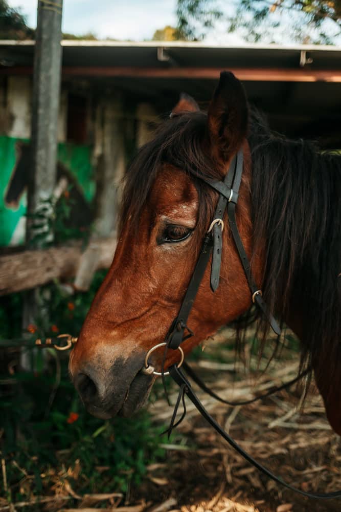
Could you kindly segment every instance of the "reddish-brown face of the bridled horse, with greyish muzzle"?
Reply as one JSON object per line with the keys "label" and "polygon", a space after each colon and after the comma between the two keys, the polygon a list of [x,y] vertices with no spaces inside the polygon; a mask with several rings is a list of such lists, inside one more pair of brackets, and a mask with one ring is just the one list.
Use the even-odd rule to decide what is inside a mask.
{"label": "reddish-brown face of the bridled horse, with greyish muzzle", "polygon": [[[233,86],[236,86],[233,79]],[[238,82],[239,83],[239,82]],[[219,91],[218,91],[219,92]],[[237,106],[245,98],[240,88]],[[211,104],[208,125],[211,141],[214,130],[221,130],[220,117],[226,114]],[[184,100],[182,100],[184,101]],[[238,102],[239,101],[239,102]],[[229,103],[229,107],[230,107]],[[246,103],[244,104],[246,109]],[[191,105],[188,107],[191,110]],[[217,112],[217,110],[219,112]],[[224,145],[212,144],[212,153],[219,154],[217,166],[228,168],[229,160],[244,144],[246,116],[242,129],[236,108],[234,123],[239,126],[238,138],[227,134],[234,151]],[[171,122],[171,121],[170,121]],[[211,124],[211,126],[210,126]],[[245,126],[244,126],[245,124]],[[252,226],[249,211],[248,170],[238,201],[239,228],[246,252],[251,253]],[[211,194],[213,207],[216,195]],[[177,315],[189,284],[204,232],[210,224],[198,222],[198,191],[182,170],[164,164],[158,169],[154,183],[143,205],[138,234],[127,216],[123,223],[115,258],[86,317],[78,343],[70,358],[70,371],[89,412],[107,418],[120,412],[129,415],[145,402],[154,377],[141,373],[147,351],[164,341]],[[223,232],[223,257],[220,286],[210,289],[210,269],[206,270],[193,309],[189,326],[195,335],[183,343],[186,353],[213,334],[216,329],[237,317],[250,304],[250,294],[241,263],[230,233]],[[258,265],[259,270],[261,268]],[[255,274],[259,279],[259,272]],[[150,362],[160,370],[163,350],[155,351]],[[165,368],[177,362],[178,351],[168,351]]]}

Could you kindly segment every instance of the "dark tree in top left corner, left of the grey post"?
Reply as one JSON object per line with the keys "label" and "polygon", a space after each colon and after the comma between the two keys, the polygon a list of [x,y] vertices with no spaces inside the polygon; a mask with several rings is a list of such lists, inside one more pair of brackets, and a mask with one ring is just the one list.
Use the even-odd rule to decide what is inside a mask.
{"label": "dark tree in top left corner, left of the grey post", "polygon": [[32,39],[34,30],[26,23],[26,16],[13,9],[6,0],[0,0],[0,39]]}

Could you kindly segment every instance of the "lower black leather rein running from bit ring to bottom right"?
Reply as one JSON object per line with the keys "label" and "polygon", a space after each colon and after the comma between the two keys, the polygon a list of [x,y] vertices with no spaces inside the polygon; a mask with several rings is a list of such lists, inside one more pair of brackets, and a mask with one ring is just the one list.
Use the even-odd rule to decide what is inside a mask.
{"label": "lower black leather rein running from bit ring to bottom right", "polygon": [[173,380],[175,380],[177,385],[184,390],[185,394],[191,400],[193,405],[197,408],[201,416],[203,416],[210,423],[210,425],[213,426],[214,430],[218,432],[218,434],[220,434],[221,437],[223,437],[225,441],[227,441],[236,450],[236,452],[238,452],[242,457],[244,457],[244,459],[246,459],[249,463],[255,466],[268,478],[271,478],[271,480],[274,480],[275,482],[283,485],[284,487],[293,490],[295,493],[307,496],[308,498],[319,498],[325,500],[330,500],[332,498],[341,498],[341,490],[336,490],[333,493],[306,493],[304,490],[301,490],[297,487],[293,487],[292,485],[283,482],[283,480],[280,477],[277,477],[276,475],[274,475],[274,473],[271,473],[270,470],[268,470],[260,462],[258,462],[251,455],[245,452],[242,449],[242,447],[239,446],[239,444],[236,443],[236,441],[221,428],[221,426],[215,421],[214,418],[212,418],[209,412],[203,407],[199,398],[196,396],[193,389],[191,388],[190,382],[187,380],[183,372],[181,372],[179,368],[176,368],[176,365],[171,366],[169,368],[169,372],[173,377]]}

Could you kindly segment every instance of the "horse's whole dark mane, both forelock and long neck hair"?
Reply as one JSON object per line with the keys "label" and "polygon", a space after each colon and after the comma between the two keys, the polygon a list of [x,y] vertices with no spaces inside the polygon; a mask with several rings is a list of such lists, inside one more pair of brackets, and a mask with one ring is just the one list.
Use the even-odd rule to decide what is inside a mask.
{"label": "horse's whole dark mane, both forelock and long neck hair", "polygon": [[[130,216],[138,226],[156,174],[168,163],[194,176],[198,228],[204,232],[216,196],[195,174],[221,178],[207,140],[205,113],[183,114],[162,123],[127,171],[121,225]],[[280,321],[289,316],[295,322],[295,312],[298,326],[303,320],[302,365],[317,359],[330,365],[330,372],[336,371],[341,355],[341,157],[323,153],[311,142],[271,132],[256,111],[251,111],[248,142],[254,251],[265,246],[265,302]],[[252,315],[253,310],[246,316]],[[264,344],[268,325],[262,317],[256,319]],[[237,323],[239,339],[243,325]]]}

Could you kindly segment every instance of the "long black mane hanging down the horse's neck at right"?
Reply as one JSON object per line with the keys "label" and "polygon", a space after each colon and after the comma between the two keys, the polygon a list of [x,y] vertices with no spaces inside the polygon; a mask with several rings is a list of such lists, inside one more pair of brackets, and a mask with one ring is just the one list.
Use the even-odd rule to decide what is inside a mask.
{"label": "long black mane hanging down the horse's neck at right", "polygon": [[299,330],[302,319],[302,363],[319,361],[332,375],[341,356],[341,157],[271,133],[257,114],[248,140],[265,302]]}

